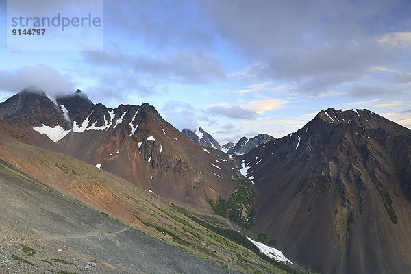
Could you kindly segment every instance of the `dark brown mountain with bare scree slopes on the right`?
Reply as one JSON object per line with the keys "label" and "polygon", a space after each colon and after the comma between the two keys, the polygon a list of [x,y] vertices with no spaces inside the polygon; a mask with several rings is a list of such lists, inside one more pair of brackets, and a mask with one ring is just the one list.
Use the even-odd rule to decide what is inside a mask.
{"label": "dark brown mountain with bare scree slopes on the right", "polygon": [[369,110],[321,111],[244,158],[256,226],[321,273],[410,273],[411,131]]}

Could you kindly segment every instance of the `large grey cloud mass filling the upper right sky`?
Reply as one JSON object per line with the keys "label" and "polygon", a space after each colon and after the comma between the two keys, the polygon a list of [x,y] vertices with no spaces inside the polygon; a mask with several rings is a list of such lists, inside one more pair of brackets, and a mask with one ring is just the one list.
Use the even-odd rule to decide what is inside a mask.
{"label": "large grey cloud mass filling the upper right sky", "polygon": [[[298,92],[324,94],[387,64],[377,40],[405,31],[407,1],[201,1],[216,32],[253,60],[246,79],[295,81]],[[397,13],[395,13],[397,14]],[[301,86],[300,86],[301,84]],[[317,90],[315,90],[316,88]]]}

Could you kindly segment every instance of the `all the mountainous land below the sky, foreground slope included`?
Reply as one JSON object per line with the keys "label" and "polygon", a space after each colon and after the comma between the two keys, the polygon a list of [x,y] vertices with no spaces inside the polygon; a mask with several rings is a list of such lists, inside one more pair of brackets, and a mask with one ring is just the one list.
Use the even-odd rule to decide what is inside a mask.
{"label": "all the mountainous land below the sky, foreground slope included", "polygon": [[148,104],[23,90],[0,148],[2,273],[411,271],[411,131],[370,110],[220,145]]}

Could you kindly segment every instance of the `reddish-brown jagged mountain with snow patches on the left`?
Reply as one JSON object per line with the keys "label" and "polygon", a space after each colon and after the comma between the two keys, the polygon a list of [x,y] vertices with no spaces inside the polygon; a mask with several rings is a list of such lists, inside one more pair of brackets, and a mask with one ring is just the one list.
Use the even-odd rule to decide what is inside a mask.
{"label": "reddish-brown jagged mountain with snow patches on the left", "polygon": [[0,103],[0,129],[195,206],[209,208],[206,199],[234,187],[225,153],[191,142],[147,103],[111,109],[79,90],[60,98],[23,91]]}

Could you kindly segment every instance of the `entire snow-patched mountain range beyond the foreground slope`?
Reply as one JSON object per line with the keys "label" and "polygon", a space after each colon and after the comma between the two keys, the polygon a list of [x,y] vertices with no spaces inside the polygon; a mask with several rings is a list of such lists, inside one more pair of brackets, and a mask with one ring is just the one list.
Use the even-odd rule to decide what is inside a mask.
{"label": "entire snow-patched mountain range beyond the foreground slope", "polygon": [[0,132],[221,215],[314,271],[411,270],[411,131],[370,110],[329,108],[282,138],[221,148],[201,128],[179,132],[147,103],[112,109],[80,90],[25,90],[0,103]]}

